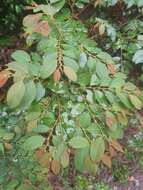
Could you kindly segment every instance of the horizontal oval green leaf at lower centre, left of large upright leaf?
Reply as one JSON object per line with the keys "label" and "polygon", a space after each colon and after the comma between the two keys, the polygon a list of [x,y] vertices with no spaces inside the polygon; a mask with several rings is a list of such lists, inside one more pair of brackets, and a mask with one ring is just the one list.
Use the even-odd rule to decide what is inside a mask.
{"label": "horizontal oval green leaf at lower centre, left of large upright leaf", "polygon": [[72,147],[72,148],[85,148],[85,147],[88,147],[89,146],[89,142],[86,138],[84,137],[80,137],[80,136],[77,136],[77,137],[73,137],[70,141],[69,141],[69,145]]}

